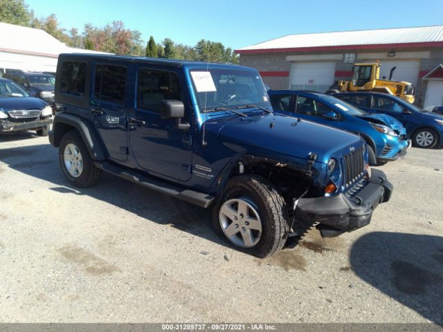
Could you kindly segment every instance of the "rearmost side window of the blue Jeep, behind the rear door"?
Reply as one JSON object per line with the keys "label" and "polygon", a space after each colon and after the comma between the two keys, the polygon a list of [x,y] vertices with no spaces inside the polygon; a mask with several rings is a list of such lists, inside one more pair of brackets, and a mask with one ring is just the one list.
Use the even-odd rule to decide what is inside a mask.
{"label": "rearmost side window of the blue Jeep, behind the rear door", "polygon": [[65,61],[62,65],[62,93],[84,97],[86,89],[86,62]]}

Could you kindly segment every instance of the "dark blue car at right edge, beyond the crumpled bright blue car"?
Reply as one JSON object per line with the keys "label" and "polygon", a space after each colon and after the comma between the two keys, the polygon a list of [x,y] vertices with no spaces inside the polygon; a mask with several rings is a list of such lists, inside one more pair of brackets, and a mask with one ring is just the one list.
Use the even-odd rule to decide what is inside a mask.
{"label": "dark blue car at right edge, beyond the crumpled bright blue car", "polygon": [[415,147],[431,149],[443,145],[443,119],[395,95],[375,92],[334,93],[334,97],[370,113],[384,113],[399,120]]}

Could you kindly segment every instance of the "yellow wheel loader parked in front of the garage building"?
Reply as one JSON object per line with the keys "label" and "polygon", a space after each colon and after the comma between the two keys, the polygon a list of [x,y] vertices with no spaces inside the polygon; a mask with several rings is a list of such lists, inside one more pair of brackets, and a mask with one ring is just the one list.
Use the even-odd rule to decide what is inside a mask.
{"label": "yellow wheel loader parked in front of the garage building", "polygon": [[352,69],[352,80],[339,80],[334,82],[327,92],[356,92],[356,91],[375,91],[397,95],[397,97],[410,102],[414,102],[415,87],[410,82],[392,81],[392,73],[395,67],[390,70],[389,78],[379,78],[380,75],[379,62],[374,64],[354,64]]}

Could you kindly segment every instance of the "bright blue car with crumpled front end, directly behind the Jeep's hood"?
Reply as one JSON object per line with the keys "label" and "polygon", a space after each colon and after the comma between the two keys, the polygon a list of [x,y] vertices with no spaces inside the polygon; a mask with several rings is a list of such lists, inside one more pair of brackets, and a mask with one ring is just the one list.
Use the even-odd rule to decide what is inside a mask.
{"label": "bright blue car with crumpled front end, directly behind the Jeep's hood", "polygon": [[268,91],[273,110],[327,124],[361,136],[368,144],[372,164],[397,160],[406,155],[406,129],[390,116],[370,114],[332,95],[311,91]]}

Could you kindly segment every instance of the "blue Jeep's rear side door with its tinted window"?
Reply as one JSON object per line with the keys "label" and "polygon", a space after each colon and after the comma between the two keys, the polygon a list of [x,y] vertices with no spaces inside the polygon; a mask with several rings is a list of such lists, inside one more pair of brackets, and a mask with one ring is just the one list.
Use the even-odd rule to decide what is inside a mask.
{"label": "blue Jeep's rear side door with its tinted window", "polygon": [[125,161],[127,145],[127,77],[125,64],[96,64],[89,102],[89,116],[109,158]]}

